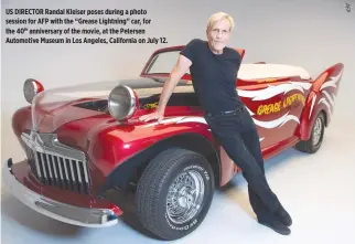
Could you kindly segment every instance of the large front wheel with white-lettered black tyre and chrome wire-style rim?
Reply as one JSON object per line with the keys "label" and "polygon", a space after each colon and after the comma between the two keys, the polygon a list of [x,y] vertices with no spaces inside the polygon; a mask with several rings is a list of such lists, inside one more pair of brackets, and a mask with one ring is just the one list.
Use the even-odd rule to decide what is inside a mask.
{"label": "large front wheel with white-lettered black tyre and chrome wire-style rim", "polygon": [[181,238],[202,223],[213,193],[214,176],[205,157],[168,149],[149,163],[138,182],[138,219],[163,240]]}

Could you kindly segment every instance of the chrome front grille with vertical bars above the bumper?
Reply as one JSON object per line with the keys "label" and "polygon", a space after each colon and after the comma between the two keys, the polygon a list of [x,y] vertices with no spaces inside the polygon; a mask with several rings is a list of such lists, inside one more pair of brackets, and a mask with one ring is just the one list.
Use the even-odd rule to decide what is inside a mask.
{"label": "chrome front grille with vertical bars above the bumper", "polygon": [[58,142],[53,134],[22,134],[29,166],[45,185],[88,194],[90,180],[84,152]]}

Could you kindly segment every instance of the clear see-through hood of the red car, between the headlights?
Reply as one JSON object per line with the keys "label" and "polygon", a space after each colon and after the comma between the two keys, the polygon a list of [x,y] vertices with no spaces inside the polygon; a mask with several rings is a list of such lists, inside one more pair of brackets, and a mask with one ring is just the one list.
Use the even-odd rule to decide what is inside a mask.
{"label": "clear see-through hood of the red car, between the headlights", "polygon": [[[109,82],[87,83],[43,91],[32,102],[33,129],[53,132],[62,125],[88,117],[110,118],[107,99],[117,85],[135,89],[139,98],[160,95],[165,78],[138,77]],[[191,84],[182,81],[178,86]]]}

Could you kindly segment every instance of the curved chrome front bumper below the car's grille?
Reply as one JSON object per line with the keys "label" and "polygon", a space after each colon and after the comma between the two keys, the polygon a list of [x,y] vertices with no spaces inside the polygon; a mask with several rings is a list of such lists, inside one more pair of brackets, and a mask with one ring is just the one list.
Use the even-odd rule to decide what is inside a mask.
{"label": "curved chrome front bumper below the car's grille", "polygon": [[31,191],[15,179],[11,167],[12,161],[9,159],[2,168],[3,182],[12,195],[34,211],[61,222],[85,227],[105,227],[118,223],[117,216],[110,209],[73,206]]}

